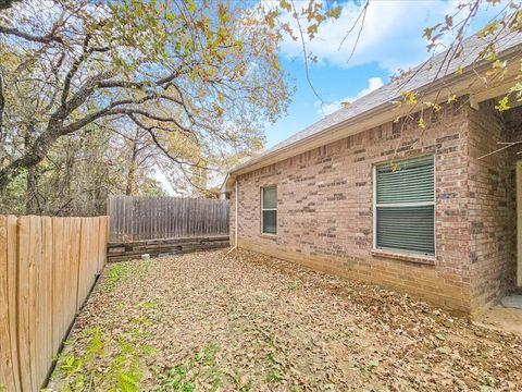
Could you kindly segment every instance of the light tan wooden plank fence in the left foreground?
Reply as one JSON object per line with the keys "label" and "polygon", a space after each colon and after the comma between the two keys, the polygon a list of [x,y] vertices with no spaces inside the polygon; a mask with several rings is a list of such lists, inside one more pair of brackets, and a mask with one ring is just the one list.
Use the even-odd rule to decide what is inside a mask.
{"label": "light tan wooden plank fence in the left foreground", "polygon": [[108,217],[0,216],[0,390],[39,391],[105,265]]}

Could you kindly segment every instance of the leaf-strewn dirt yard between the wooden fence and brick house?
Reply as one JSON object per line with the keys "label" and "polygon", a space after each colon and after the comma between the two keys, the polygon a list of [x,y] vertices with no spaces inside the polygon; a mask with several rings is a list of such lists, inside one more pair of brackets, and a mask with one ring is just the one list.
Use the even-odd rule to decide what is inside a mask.
{"label": "leaf-strewn dirt yard between the wooden fence and brick house", "polygon": [[522,339],[237,252],[110,265],[50,388],[517,391]]}

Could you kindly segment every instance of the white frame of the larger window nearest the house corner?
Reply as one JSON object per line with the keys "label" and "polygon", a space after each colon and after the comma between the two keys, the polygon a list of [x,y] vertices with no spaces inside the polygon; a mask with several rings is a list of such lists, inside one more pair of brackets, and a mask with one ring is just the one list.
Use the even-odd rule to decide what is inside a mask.
{"label": "white frame of the larger window nearest the house corner", "polygon": [[[398,164],[400,162],[408,161],[410,159],[415,159],[415,158],[422,158],[423,156],[419,157],[409,157],[401,159],[398,161]],[[424,156],[428,157],[428,156]],[[377,252],[386,252],[386,253],[393,253],[393,254],[399,254],[399,255],[406,255],[406,256],[421,256],[423,258],[433,258],[435,259],[437,256],[437,171],[435,168],[437,167],[435,164],[435,156],[433,156],[433,201],[410,201],[410,203],[391,203],[391,204],[378,204],[377,203],[377,167],[386,163],[384,162],[378,162],[374,163],[372,168],[372,176],[373,176],[373,199],[372,199],[372,207],[373,207],[373,250]],[[407,249],[391,249],[391,248],[380,248],[377,247],[377,207],[421,207],[421,206],[433,206],[433,255],[426,255],[422,253],[417,253],[417,252],[411,252]]]}

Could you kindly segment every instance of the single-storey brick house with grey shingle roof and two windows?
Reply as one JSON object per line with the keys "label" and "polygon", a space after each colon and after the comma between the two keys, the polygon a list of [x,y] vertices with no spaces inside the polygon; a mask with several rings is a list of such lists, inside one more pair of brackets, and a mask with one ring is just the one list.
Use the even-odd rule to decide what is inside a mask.
{"label": "single-storey brick house with grey shingle roof and two windows", "polygon": [[[486,87],[484,45],[471,37],[445,76],[440,53],[231,171],[231,243],[463,313],[521,285],[522,107],[495,109],[517,70]],[[521,35],[500,48],[520,58]],[[442,103],[425,128],[394,106],[403,90]]]}

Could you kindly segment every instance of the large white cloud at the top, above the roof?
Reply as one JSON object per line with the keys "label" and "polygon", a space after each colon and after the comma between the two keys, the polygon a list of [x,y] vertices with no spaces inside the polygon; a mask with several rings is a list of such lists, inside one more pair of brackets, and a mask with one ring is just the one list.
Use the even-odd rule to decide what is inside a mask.
{"label": "large white cloud at the top, above the roof", "polygon": [[[424,28],[444,21],[446,14],[455,12],[458,1],[370,1],[363,30],[353,57],[348,62],[362,19],[340,49],[339,45],[364,3],[364,1],[361,1],[361,4],[346,2],[340,17],[325,22],[320,27],[318,36],[307,42],[308,50],[318,57],[320,64],[351,68],[374,62],[390,73],[395,73],[399,68],[414,66],[428,56],[426,41],[422,37]],[[490,7],[481,11],[476,23],[485,24],[498,10],[499,7]],[[290,15],[284,17],[295,25]],[[302,57],[300,41],[290,38],[282,46],[283,54],[288,58]]]}

